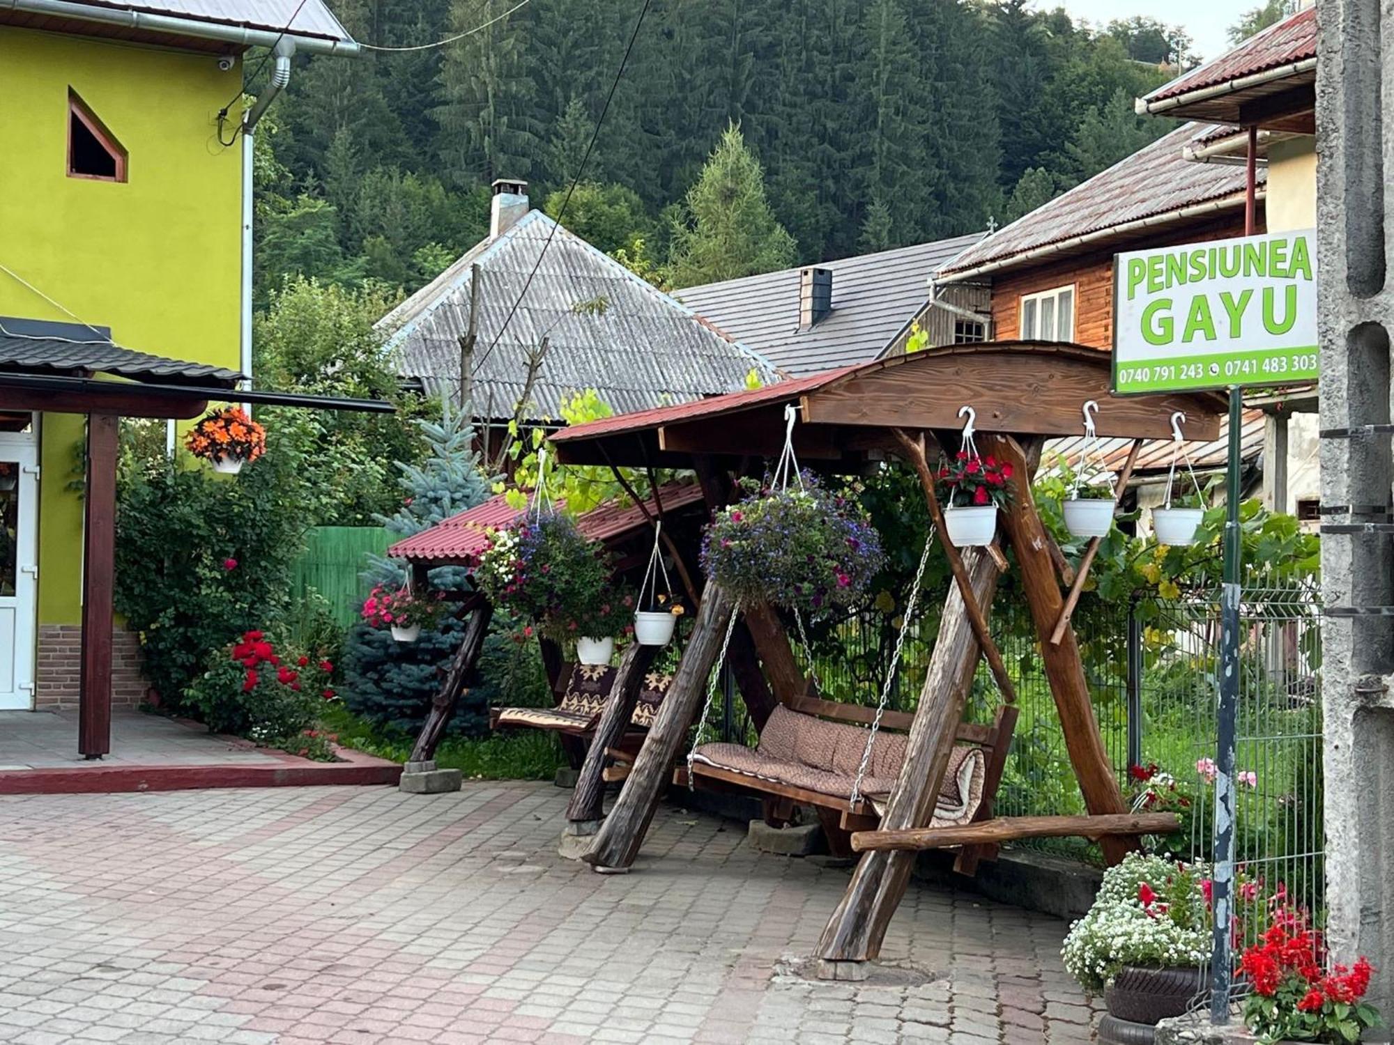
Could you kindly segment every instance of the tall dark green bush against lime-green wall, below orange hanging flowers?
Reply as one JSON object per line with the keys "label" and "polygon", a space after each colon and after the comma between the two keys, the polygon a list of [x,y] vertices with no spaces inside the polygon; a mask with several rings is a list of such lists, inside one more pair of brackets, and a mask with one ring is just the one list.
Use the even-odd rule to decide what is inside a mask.
{"label": "tall dark green bush against lime-green wall, below orange hanging flowers", "polygon": [[272,429],[266,456],[233,478],[163,454],[121,471],[116,609],[139,634],[163,706],[185,709],[212,651],[289,607],[304,520],[286,506],[304,486],[279,450]]}

